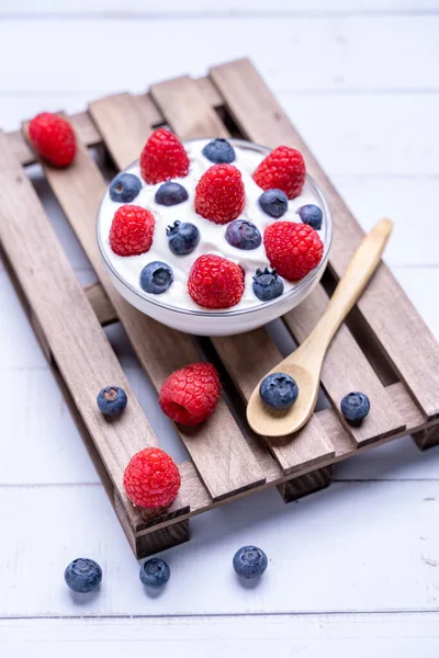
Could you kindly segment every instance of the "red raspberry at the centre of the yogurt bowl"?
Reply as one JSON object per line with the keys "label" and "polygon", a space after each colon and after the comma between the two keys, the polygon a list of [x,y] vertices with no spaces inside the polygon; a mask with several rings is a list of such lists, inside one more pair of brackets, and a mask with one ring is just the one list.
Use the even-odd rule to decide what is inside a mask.
{"label": "red raspberry at the centre of the yogurt bowl", "polygon": [[236,219],[245,203],[240,171],[233,164],[210,167],[195,188],[195,211],[215,224]]}

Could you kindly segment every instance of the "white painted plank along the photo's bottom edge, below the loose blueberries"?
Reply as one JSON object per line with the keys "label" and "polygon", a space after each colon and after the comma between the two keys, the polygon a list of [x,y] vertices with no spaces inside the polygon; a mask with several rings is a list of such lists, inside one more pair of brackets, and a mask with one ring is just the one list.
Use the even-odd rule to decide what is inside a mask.
{"label": "white painted plank along the photo's bottom edge, below the loose blueberries", "polygon": [[[98,644],[99,643],[99,644]],[[439,614],[177,617],[140,620],[0,621],[8,658],[105,658],[178,655],[193,658],[436,658]]]}

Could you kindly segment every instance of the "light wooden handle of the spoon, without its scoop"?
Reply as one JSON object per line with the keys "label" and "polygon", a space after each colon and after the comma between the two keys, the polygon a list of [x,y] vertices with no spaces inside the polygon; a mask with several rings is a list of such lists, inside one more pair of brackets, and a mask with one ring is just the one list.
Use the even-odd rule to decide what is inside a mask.
{"label": "light wooden handle of the spoon, without its scoop", "polygon": [[324,349],[324,352],[378,268],[392,228],[393,223],[390,219],[381,219],[352,256],[325,314],[308,337],[308,341]]}

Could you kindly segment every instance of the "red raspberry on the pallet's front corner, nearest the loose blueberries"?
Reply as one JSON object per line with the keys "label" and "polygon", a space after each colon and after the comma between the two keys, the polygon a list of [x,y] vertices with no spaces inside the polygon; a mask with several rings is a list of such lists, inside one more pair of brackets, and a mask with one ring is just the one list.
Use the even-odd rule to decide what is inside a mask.
{"label": "red raspberry on the pallet's front corner, nearest the loose blueberries", "polygon": [[173,460],[159,447],[146,447],[132,457],[123,484],[130,500],[143,508],[168,507],[177,498],[181,477]]}

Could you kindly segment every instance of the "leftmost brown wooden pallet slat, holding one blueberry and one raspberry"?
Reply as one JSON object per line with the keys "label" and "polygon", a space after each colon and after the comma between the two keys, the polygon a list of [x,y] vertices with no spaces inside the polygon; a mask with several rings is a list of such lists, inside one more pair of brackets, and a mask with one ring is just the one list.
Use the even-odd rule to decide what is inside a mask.
{"label": "leftmost brown wooden pallet slat, holding one blueberry and one raspberry", "polygon": [[[142,518],[127,500],[123,473],[132,455],[158,441],[132,392],[97,316],[70,268],[44,208],[0,134],[0,237],[50,354],[80,409],[100,457],[135,527]],[[125,412],[111,422],[95,402],[101,388],[128,395]],[[187,512],[181,497],[161,520]]]}

